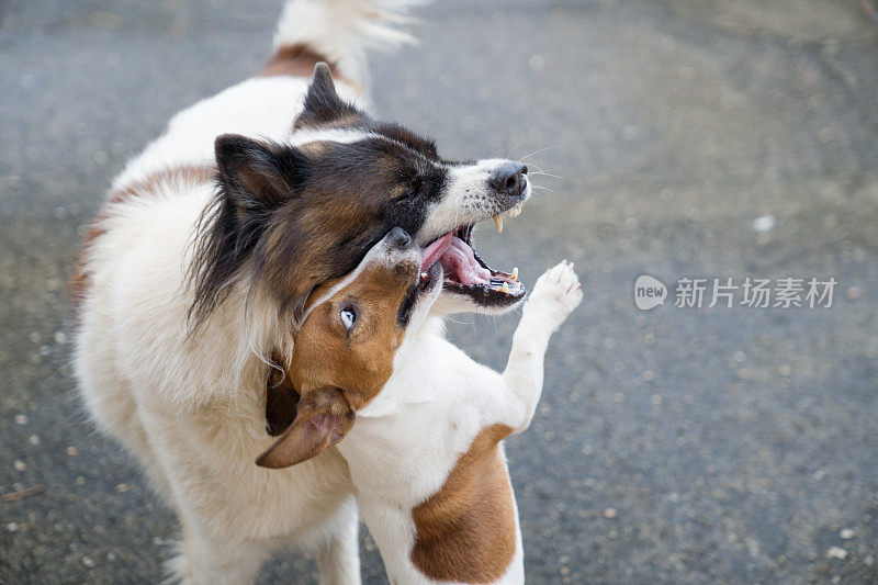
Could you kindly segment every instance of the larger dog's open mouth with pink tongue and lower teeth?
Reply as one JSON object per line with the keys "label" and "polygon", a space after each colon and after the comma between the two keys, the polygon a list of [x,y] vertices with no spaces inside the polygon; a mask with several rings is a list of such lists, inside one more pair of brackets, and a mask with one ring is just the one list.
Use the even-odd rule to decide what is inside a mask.
{"label": "larger dog's open mouth with pink tongue and lower teeth", "polygon": [[[502,225],[499,223],[497,228],[502,229]],[[488,267],[475,254],[472,232],[472,225],[458,227],[425,247],[421,274],[430,272],[438,262],[444,274],[444,289],[469,295],[482,305],[508,305],[517,302],[525,295],[525,285],[518,280],[518,269],[515,268],[509,273]]]}

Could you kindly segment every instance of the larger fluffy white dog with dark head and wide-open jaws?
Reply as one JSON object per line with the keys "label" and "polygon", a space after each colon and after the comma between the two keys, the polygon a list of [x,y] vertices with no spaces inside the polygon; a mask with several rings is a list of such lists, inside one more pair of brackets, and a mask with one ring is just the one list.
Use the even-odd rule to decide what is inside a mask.
{"label": "larger fluffy white dog with dark head and wide-open jaws", "polygon": [[443,159],[367,111],[364,52],[408,38],[389,26],[407,3],[288,2],[263,70],[171,119],[86,235],[76,375],[98,426],[180,518],[180,578],[247,582],[295,543],[318,550],[323,581],[359,582],[337,449],[282,471],[252,464],[273,441],[267,423],[279,432],[290,419],[271,361],[291,362],[315,290],[399,226],[442,269],[435,315],[524,299],[471,243],[476,223],[499,227],[530,196],[524,165]]}

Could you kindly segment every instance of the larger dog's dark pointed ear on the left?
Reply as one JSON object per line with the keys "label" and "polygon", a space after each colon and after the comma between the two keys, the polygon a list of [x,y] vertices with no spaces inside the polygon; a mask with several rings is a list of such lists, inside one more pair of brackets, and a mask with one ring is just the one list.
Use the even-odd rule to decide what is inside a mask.
{"label": "larger dog's dark pointed ear on the left", "polygon": [[307,158],[291,146],[224,134],[214,144],[219,181],[239,220],[277,209],[304,179]]}

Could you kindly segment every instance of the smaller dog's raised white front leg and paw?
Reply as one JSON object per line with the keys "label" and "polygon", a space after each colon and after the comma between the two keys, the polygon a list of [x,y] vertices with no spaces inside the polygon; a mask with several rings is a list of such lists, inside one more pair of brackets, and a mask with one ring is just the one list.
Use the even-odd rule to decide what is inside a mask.
{"label": "smaller dog's raised white front leg and paw", "polygon": [[583,300],[582,285],[573,265],[566,260],[547,270],[525,303],[521,320],[513,336],[509,361],[503,372],[513,394],[509,420],[516,432],[533,417],[542,393],[542,368],[549,338]]}

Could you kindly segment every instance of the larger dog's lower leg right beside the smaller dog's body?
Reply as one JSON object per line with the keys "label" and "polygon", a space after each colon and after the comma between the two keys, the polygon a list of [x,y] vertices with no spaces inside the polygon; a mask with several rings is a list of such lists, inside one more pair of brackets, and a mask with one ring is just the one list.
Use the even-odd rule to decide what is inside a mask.
{"label": "larger dog's lower leg right beside the smaller dog's body", "polygon": [[317,544],[319,585],[358,585],[360,583],[360,518],[351,497],[328,525],[328,538]]}

